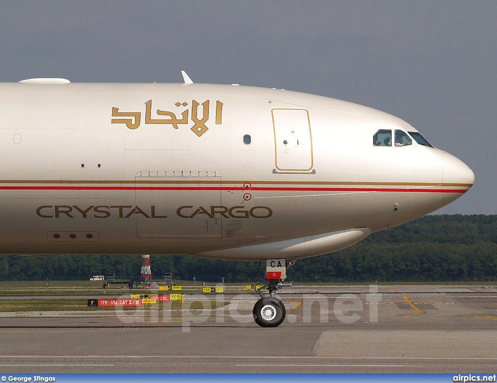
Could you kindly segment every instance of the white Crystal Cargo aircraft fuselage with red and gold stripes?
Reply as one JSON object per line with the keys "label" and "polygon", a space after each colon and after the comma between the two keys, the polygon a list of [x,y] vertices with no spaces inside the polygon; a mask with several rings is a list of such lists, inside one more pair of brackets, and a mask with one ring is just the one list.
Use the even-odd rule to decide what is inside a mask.
{"label": "white Crystal Cargo aircraft fuselage with red and gold stripes", "polygon": [[380,129],[416,131],[397,117],[289,91],[1,84],[0,115],[3,254],[303,258],[474,182],[415,140],[374,146]]}

